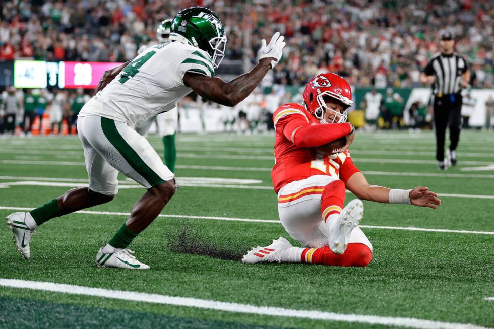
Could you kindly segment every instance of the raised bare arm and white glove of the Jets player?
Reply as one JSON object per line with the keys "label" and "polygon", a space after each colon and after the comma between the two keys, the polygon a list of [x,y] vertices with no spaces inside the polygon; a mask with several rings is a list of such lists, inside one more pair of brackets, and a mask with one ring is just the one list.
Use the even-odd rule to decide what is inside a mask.
{"label": "raised bare arm and white glove of the Jets player", "polygon": [[183,82],[199,96],[225,106],[235,106],[256,88],[268,71],[275,67],[282,56],[285,46],[283,37],[276,32],[268,45],[263,40],[259,51],[259,63],[248,73],[236,77],[230,82],[220,78],[206,77],[191,72],[183,76]]}

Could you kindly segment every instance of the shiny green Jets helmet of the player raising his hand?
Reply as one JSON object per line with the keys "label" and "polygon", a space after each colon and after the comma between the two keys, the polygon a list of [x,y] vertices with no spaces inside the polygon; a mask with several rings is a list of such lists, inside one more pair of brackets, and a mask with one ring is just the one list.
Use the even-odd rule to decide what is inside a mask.
{"label": "shiny green Jets helmet of the player raising his hand", "polygon": [[188,43],[206,51],[217,68],[225,56],[226,35],[219,17],[205,7],[180,11],[172,21],[169,40]]}

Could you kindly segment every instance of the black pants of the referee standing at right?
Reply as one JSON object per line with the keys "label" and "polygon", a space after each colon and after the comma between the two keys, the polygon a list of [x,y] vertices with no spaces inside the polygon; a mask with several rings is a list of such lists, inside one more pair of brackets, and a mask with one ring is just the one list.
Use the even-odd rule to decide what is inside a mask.
{"label": "black pants of the referee standing at right", "polygon": [[444,139],[446,127],[450,128],[450,150],[456,150],[460,140],[461,127],[460,94],[434,97],[434,125],[436,126],[436,159],[444,161]]}

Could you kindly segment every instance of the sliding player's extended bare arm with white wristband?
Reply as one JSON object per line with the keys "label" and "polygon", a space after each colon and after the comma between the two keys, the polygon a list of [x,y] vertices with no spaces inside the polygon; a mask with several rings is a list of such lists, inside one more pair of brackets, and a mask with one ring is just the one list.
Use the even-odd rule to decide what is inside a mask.
{"label": "sliding player's extended bare arm with white wristband", "polygon": [[430,191],[428,187],[415,187],[404,190],[370,185],[361,172],[354,173],[347,180],[346,188],[359,199],[384,204],[408,204],[433,209],[441,205],[441,200],[437,198],[438,194]]}

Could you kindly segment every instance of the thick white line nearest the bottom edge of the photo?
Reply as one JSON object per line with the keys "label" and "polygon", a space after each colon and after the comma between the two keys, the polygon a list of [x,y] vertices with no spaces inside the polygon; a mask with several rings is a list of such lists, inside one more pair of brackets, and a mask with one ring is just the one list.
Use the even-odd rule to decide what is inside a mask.
{"label": "thick white line nearest the bottom edge of the photo", "polygon": [[312,320],[357,322],[368,324],[381,324],[388,326],[399,326],[407,328],[423,329],[484,329],[485,327],[470,323],[451,323],[433,320],[424,320],[409,317],[390,317],[377,315],[342,314],[325,311],[298,310],[272,306],[256,306],[249,304],[221,302],[208,299],[191,297],[175,297],[167,295],[149,294],[134,291],[110,290],[103,288],[67,285],[53,282],[39,282],[18,279],[0,279],[0,286],[9,288],[32,289],[49,292],[58,292],[70,295],[82,295],[102,297],[109,299],[129,300],[136,302],[164,304],[182,307],[194,307],[202,309],[213,309],[216,311],[246,313],[267,316],[283,316],[305,318]]}

